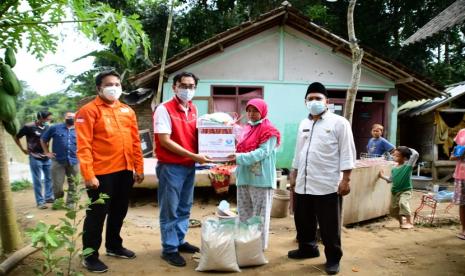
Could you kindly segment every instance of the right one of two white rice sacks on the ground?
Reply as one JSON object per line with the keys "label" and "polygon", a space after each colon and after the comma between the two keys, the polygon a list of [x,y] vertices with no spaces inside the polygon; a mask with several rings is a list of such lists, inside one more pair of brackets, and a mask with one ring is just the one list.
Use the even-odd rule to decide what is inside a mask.
{"label": "right one of two white rice sacks on the ground", "polygon": [[241,222],[236,229],[234,243],[237,264],[240,267],[268,263],[263,254],[261,225],[261,217],[252,217],[246,222]]}

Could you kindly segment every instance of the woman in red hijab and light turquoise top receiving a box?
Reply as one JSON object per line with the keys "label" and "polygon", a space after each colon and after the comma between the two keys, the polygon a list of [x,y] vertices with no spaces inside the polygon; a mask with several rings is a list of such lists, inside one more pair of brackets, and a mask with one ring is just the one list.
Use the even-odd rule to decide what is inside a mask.
{"label": "woman in red hijab and light turquoise top receiving a box", "polygon": [[273,189],[276,189],[276,148],[279,131],[267,119],[268,107],[262,99],[246,106],[249,122],[239,140],[236,154],[237,209],[241,221],[253,216],[263,218],[262,247],[268,247]]}

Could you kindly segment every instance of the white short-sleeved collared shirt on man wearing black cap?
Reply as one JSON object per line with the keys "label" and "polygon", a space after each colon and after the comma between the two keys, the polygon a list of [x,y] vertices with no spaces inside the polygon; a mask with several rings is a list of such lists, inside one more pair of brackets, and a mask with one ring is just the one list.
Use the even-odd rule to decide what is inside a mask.
{"label": "white short-sleeved collared shirt on man wearing black cap", "polygon": [[337,192],[341,171],[355,167],[355,144],[349,122],[325,112],[300,122],[292,168],[298,170],[295,192],[326,195]]}

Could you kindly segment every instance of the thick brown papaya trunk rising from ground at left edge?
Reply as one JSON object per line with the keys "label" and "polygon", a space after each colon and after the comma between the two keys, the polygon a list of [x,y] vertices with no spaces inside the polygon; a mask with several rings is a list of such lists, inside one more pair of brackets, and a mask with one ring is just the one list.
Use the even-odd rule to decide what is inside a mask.
{"label": "thick brown papaya trunk rising from ground at left edge", "polygon": [[8,175],[8,160],[5,148],[5,128],[0,122],[0,236],[5,253],[13,252],[21,244],[21,234],[16,222],[16,212],[13,208],[10,177]]}

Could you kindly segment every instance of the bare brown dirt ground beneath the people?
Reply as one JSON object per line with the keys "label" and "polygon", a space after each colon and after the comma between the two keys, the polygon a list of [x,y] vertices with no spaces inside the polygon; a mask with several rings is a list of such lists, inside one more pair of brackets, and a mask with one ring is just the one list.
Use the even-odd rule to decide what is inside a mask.
{"label": "bare brown dirt ground beneath the people", "polygon": [[[230,191],[233,194],[234,191]],[[14,203],[23,229],[37,221],[56,223],[64,211],[35,208],[32,190],[15,192]],[[415,192],[412,209],[419,206],[421,192]],[[135,191],[131,207],[122,229],[124,246],[134,250],[137,258],[121,260],[107,257],[100,249],[102,260],[109,266],[107,275],[201,275],[191,255],[184,254],[187,266],[176,268],[160,258],[160,231],[156,192]],[[212,216],[221,198],[209,190],[196,190],[192,218],[203,220]],[[233,197],[229,199],[233,200]],[[439,220],[433,226],[417,226],[401,230],[395,220],[379,218],[343,229],[344,257],[339,275],[465,275],[465,241],[455,237],[459,231],[454,206],[445,213],[446,203],[439,206]],[[322,256],[316,259],[295,261],[287,258],[287,251],[295,249],[295,227],[292,217],[272,219],[267,265],[242,269],[242,274],[256,275],[325,275]],[[191,228],[187,241],[200,246],[200,228]],[[32,275],[32,267],[40,258],[35,253],[25,259],[10,275]],[[76,267],[88,274],[76,262]],[[206,273],[205,273],[206,274]],[[218,274],[218,273],[212,273]]]}

